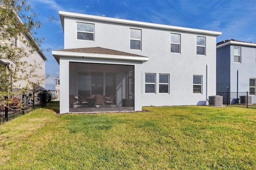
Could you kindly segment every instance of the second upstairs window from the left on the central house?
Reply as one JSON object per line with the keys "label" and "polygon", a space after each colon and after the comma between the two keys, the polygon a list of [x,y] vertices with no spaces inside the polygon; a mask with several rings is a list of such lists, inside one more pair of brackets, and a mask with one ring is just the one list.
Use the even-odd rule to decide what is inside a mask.
{"label": "second upstairs window from the left on the central house", "polygon": [[130,49],[141,50],[141,30],[130,29]]}

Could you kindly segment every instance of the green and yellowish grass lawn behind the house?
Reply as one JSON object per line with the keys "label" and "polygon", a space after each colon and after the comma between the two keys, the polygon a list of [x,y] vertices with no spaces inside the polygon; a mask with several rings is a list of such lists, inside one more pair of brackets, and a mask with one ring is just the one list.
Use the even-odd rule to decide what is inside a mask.
{"label": "green and yellowish grass lawn behind the house", "polygon": [[0,126],[0,169],[256,169],[256,109],[144,107]]}

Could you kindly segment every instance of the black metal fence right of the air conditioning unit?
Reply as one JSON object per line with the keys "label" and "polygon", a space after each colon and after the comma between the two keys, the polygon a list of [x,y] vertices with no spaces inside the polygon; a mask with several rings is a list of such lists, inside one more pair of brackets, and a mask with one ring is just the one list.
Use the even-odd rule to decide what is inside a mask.
{"label": "black metal fence right of the air conditioning unit", "polygon": [[256,109],[255,92],[217,92],[216,95],[223,96],[224,105]]}

